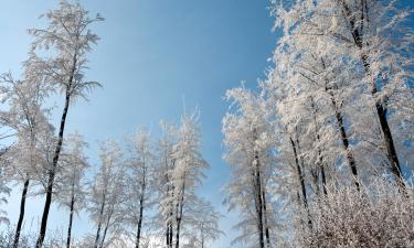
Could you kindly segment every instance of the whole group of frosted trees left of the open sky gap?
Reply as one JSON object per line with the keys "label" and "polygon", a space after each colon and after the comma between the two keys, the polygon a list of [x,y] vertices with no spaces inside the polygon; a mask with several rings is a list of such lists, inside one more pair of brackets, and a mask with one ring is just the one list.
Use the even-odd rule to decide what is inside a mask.
{"label": "whole group of frosted trees left of the open sky gap", "polygon": [[[0,247],[208,247],[223,233],[221,215],[195,194],[209,168],[200,153],[198,111],[184,114],[179,125],[162,122],[158,140],[140,128],[123,143],[100,142],[100,163],[92,168],[83,136],[64,130],[71,106],[100,87],[85,72],[99,40],[91,25],[104,19],[65,0],[43,18],[45,28],[29,30],[33,42],[22,78],[11,73],[0,78],[2,202],[10,186],[22,186],[19,219],[15,227],[2,229]],[[51,96],[64,101],[57,128],[46,105]],[[44,209],[39,234],[26,234],[26,200],[33,195],[44,196]],[[66,234],[46,233],[52,203],[67,213]],[[74,238],[81,212],[95,229]],[[6,213],[0,214],[8,223]]]}

